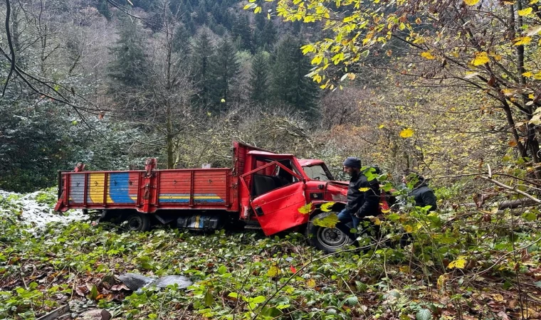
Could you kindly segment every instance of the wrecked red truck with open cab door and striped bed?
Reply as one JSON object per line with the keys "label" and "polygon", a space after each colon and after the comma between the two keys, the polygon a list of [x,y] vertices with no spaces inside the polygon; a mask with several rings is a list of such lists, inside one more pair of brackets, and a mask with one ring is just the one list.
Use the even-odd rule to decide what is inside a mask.
{"label": "wrecked red truck with open cab door and striped bed", "polygon": [[[127,221],[130,230],[152,223],[211,230],[226,225],[261,227],[266,235],[307,227],[310,242],[327,252],[351,240],[336,228],[310,223],[345,206],[347,182],[333,181],[321,160],[301,160],[233,142],[233,167],[218,169],[59,172],[56,211],[100,210],[100,220]],[[311,203],[311,205],[310,205]],[[376,215],[376,214],[374,214]]]}

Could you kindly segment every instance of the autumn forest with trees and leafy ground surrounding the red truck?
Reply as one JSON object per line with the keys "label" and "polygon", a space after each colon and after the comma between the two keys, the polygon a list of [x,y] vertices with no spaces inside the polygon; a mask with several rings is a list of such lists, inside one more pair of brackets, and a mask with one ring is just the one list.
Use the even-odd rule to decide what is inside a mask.
{"label": "autumn forest with trees and leafy ground surrounding the red truck", "polygon": [[[0,12],[0,319],[541,319],[538,0]],[[382,238],[329,254],[302,230],[137,233],[53,211],[78,163],[229,168],[232,142],[321,159],[338,181],[357,156],[402,202],[369,218]],[[437,210],[408,202],[406,170]],[[126,272],[194,283],[132,290]]]}

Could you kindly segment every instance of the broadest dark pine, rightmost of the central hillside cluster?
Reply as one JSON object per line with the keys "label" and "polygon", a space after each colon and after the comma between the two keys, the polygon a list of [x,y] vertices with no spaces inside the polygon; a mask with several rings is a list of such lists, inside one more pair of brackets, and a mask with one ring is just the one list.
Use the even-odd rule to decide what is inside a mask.
{"label": "broadest dark pine, rightmost of the central hillside cluster", "polygon": [[305,77],[311,66],[300,46],[300,40],[292,36],[280,42],[274,53],[271,89],[276,99],[311,112],[315,107],[317,85]]}

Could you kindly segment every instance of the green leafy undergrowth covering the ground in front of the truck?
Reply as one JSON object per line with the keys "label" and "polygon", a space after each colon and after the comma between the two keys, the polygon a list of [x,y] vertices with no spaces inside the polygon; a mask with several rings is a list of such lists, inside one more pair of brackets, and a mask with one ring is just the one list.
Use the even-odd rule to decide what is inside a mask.
{"label": "green leafy undergrowth covering the ground in front of the truck", "polygon": [[[537,209],[414,208],[372,218],[381,238],[333,255],[299,233],[71,223],[36,236],[2,219],[0,319],[35,319],[63,304],[122,319],[535,319],[538,218]],[[124,272],[194,284],[131,292],[115,279]]]}

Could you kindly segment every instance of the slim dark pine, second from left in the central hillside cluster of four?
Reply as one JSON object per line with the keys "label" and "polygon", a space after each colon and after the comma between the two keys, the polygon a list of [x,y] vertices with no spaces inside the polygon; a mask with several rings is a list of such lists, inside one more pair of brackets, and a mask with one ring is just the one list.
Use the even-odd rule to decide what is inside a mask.
{"label": "slim dark pine, second from left in the central hillside cluster of four", "polygon": [[236,58],[236,48],[225,38],[216,50],[212,61],[212,99],[218,110],[226,110],[227,103],[232,99],[231,91],[235,85],[240,63]]}

